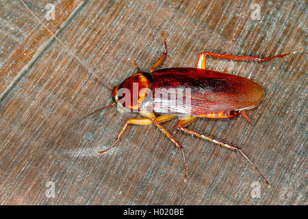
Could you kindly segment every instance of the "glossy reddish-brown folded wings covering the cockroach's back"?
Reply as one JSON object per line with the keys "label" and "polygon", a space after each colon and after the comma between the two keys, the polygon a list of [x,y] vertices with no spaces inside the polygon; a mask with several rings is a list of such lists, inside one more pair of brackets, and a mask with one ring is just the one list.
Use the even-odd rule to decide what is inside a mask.
{"label": "glossy reddish-brown folded wings covering the cockroach's back", "polygon": [[152,73],[153,100],[146,110],[169,115],[204,115],[249,109],[264,99],[259,84],[199,68],[164,68]]}

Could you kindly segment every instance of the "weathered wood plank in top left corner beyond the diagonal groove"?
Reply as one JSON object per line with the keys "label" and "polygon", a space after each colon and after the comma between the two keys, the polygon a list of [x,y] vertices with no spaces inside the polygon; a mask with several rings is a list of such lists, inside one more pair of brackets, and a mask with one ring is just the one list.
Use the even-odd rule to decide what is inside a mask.
{"label": "weathered wood plank in top left corner beyond the diagonal groove", "polygon": [[[28,3],[28,2],[27,2]],[[28,3],[31,10],[45,19],[45,5],[51,1],[40,1],[39,3]],[[60,31],[61,25],[65,25],[73,12],[81,7],[83,1],[59,1],[54,3],[57,19],[50,20],[47,27],[54,33]],[[0,16],[0,40],[2,49],[0,51],[0,100],[14,86],[23,73],[42,53],[49,42],[53,40],[47,29],[42,28],[32,17],[25,17],[25,7],[21,7],[18,1],[1,3]]]}

